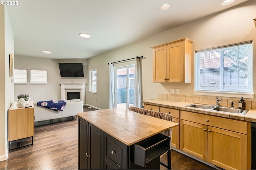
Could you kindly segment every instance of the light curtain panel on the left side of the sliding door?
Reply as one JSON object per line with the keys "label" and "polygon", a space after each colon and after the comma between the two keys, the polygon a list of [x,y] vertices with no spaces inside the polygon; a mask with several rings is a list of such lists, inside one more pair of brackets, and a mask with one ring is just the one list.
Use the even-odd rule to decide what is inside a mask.
{"label": "light curtain panel on the left side of the sliding door", "polygon": [[115,108],[114,103],[114,66],[113,64],[109,64],[109,98],[108,98],[108,108]]}

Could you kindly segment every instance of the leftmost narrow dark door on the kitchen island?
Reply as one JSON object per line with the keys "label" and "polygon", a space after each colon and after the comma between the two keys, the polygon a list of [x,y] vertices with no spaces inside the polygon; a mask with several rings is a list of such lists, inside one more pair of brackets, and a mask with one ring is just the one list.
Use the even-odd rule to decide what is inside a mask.
{"label": "leftmost narrow dark door on the kitchen island", "polygon": [[88,169],[88,121],[78,117],[78,169]]}

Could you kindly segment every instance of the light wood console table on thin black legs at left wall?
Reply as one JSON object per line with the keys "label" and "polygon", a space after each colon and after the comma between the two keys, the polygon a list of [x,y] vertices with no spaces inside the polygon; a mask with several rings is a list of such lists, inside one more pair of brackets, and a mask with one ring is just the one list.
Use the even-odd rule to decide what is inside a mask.
{"label": "light wood console table on thin black legs at left wall", "polygon": [[[25,108],[27,107],[27,108]],[[30,101],[25,107],[19,108],[17,102],[13,102],[8,109],[8,142],[21,139],[21,147],[33,145],[34,136],[34,105]],[[32,137],[32,144],[22,146],[22,139]],[[15,148],[16,149],[16,148]]]}

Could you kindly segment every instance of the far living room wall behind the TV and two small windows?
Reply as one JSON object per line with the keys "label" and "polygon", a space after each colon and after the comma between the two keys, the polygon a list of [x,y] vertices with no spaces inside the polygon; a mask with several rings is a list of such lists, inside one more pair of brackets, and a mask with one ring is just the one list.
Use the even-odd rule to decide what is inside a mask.
{"label": "far living room wall behind the TV and two small windows", "polygon": [[[14,68],[28,70],[28,84],[14,85],[14,100],[19,94],[29,94],[34,103],[46,100],[61,100],[60,82],[86,82],[86,78],[61,78],[58,63],[83,63],[87,65],[87,60],[65,59],[55,60],[40,57],[15,56]],[[47,84],[30,85],[30,69],[47,70]],[[86,71],[84,71],[86,72]]]}

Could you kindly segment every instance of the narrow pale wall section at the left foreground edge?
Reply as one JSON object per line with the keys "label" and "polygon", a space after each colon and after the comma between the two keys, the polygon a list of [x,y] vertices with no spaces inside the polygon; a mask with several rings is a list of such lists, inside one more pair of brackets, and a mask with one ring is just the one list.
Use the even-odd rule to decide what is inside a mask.
{"label": "narrow pale wall section at the left foreground edge", "polygon": [[0,161],[8,156],[8,109],[14,98],[14,84],[9,77],[9,54],[14,55],[14,35],[5,6],[0,6]]}

